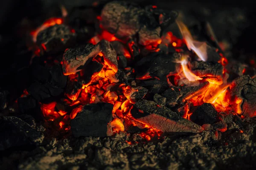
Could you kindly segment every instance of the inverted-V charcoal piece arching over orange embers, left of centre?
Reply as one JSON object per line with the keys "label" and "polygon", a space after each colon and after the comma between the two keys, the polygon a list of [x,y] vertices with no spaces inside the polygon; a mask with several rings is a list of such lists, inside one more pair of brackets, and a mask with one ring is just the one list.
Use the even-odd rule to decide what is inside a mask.
{"label": "inverted-V charcoal piece arching over orange embers, left of centre", "polygon": [[105,64],[113,71],[117,72],[116,52],[110,42],[102,40],[96,45],[87,43],[86,45],[67,49],[63,54],[63,74],[70,75],[81,71],[81,66],[83,66],[88,59],[96,57],[100,52],[103,55]]}

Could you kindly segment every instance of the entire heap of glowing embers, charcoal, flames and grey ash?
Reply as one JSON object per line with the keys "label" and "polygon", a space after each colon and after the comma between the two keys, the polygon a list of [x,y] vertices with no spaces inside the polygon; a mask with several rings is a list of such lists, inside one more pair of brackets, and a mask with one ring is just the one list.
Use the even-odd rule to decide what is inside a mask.
{"label": "entire heap of glowing embers, charcoal, flames and grey ash", "polygon": [[255,68],[209,22],[119,1],[61,9],[26,30],[23,94],[0,89],[4,169],[256,166]]}

